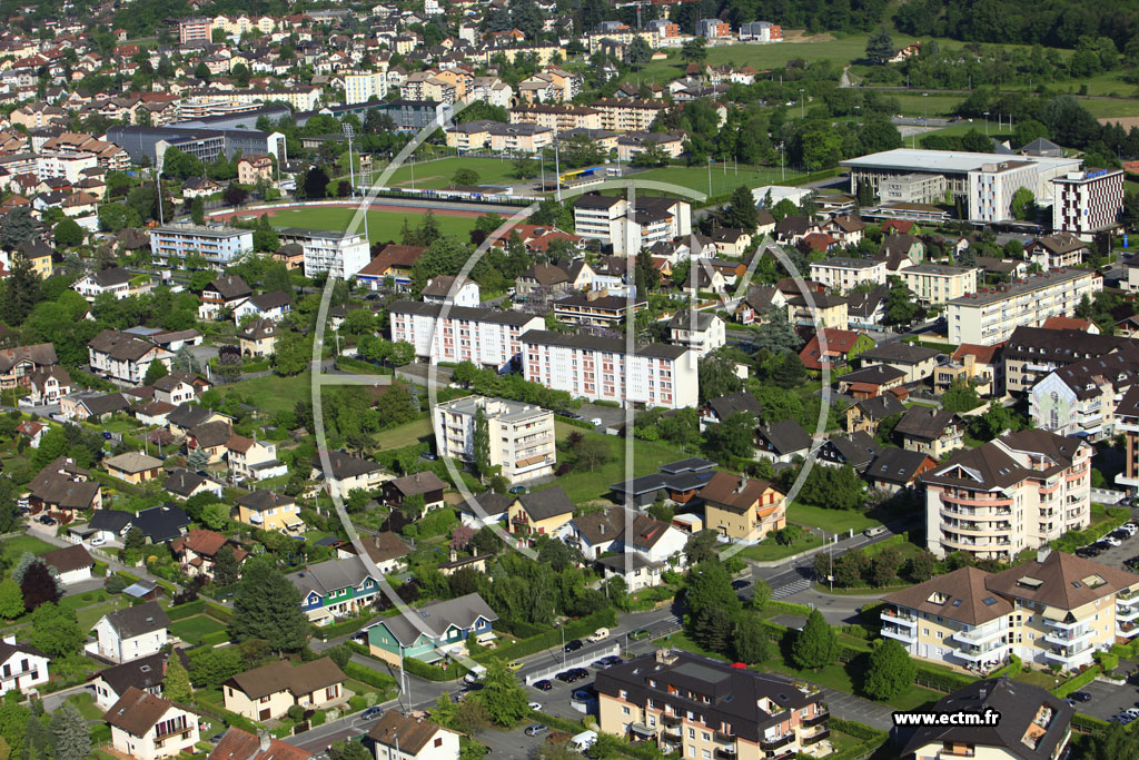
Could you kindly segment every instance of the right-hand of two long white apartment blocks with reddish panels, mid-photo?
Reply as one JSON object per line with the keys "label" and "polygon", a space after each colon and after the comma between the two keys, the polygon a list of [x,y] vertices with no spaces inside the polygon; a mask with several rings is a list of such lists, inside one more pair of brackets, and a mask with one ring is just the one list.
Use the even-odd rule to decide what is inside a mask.
{"label": "right-hand of two long white apartment blocks with reddish panels, mid-photo", "polygon": [[626,353],[625,341],[532,329],[522,336],[527,381],[555,391],[622,406],[697,406],[697,357],[681,345],[653,343]]}

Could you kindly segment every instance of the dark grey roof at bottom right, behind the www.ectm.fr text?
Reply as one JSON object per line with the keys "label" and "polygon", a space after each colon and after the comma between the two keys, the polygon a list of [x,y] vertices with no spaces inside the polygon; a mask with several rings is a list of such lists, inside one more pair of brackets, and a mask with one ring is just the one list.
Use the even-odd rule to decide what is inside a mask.
{"label": "dark grey roof at bottom right, behind the www.ectm.fr text", "polygon": [[[956,743],[969,746],[1001,747],[1023,760],[1049,760],[1059,743],[1068,735],[1075,709],[1039,686],[1010,678],[991,678],[975,681],[942,697],[934,712],[984,712],[992,710],[1000,720],[991,726],[927,726],[913,732],[906,743],[903,755],[911,755],[931,743]],[[1046,726],[1035,722],[1043,721]],[[1029,739],[1029,728],[1035,722],[1044,728],[1034,742]]]}

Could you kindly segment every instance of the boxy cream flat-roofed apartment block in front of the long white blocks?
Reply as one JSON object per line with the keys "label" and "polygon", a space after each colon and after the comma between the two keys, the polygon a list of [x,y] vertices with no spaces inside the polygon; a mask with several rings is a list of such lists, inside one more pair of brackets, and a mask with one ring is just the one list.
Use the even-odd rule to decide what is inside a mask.
{"label": "boxy cream flat-roofed apartment block in front of the long white blocks", "polygon": [[468,395],[435,407],[435,448],[441,457],[475,459],[478,410],[486,418],[490,464],[511,483],[554,474],[554,412],[519,401]]}

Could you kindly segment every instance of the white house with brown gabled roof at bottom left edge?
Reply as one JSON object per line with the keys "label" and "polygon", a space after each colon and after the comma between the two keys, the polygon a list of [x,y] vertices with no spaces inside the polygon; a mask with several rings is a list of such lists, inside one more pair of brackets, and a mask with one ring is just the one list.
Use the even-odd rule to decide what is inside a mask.
{"label": "white house with brown gabled roof at bottom left edge", "polygon": [[134,760],[158,760],[192,751],[200,738],[196,714],[133,686],[103,719],[110,726],[115,751]]}

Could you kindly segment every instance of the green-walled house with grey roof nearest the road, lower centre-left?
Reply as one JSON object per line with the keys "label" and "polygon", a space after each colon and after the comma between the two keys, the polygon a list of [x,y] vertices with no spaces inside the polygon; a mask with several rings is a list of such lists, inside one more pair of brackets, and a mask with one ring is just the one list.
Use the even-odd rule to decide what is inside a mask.
{"label": "green-walled house with grey roof nearest the road, lower centre-left", "polygon": [[398,615],[364,629],[371,654],[392,664],[400,657],[435,662],[448,654],[466,654],[467,639],[485,644],[494,638],[491,626],[498,615],[483,597],[468,594],[433,602],[415,610],[415,616]]}

